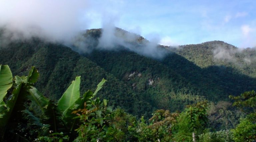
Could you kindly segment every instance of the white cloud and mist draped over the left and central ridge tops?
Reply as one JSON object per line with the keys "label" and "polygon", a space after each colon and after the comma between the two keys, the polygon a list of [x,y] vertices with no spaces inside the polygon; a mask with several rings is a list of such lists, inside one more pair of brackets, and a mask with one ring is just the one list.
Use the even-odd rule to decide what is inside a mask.
{"label": "white cloud and mist draped over the left and central ridge tops", "polygon": [[[89,53],[94,48],[117,50],[126,48],[138,54],[162,58],[166,50],[157,47],[157,42],[144,40],[136,43],[139,35],[116,30],[120,15],[117,12],[102,15],[102,34],[98,40],[81,36],[81,31],[89,27],[86,15],[97,6],[89,0],[2,0],[0,1],[0,46],[17,39],[39,37],[50,42],[60,42],[81,53]],[[89,14],[90,15],[90,14]],[[1,32],[1,31],[0,31]]]}

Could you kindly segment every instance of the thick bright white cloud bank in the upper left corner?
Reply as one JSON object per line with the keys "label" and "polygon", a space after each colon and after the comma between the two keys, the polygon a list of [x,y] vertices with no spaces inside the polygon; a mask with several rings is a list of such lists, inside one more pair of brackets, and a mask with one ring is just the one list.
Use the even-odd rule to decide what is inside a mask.
{"label": "thick bright white cloud bank in the upper left corner", "polygon": [[[11,38],[40,36],[53,41],[65,41],[88,26],[81,21],[86,0],[0,0],[0,27]],[[20,37],[22,36],[22,37]]]}

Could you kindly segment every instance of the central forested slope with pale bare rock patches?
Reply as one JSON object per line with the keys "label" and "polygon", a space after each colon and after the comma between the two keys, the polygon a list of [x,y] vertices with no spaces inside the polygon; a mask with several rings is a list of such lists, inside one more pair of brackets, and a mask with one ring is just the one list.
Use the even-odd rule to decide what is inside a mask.
{"label": "central forested slope with pale bare rock patches", "polygon": [[132,51],[95,50],[86,57],[126,82],[153,106],[172,111],[204,98],[203,92],[158,61]]}

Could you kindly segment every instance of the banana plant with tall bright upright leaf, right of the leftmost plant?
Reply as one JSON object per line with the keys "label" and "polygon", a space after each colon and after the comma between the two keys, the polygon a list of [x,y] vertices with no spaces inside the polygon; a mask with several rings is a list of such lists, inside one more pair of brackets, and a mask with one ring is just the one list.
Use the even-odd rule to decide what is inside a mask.
{"label": "banana plant with tall bright upright leaf, right of the leftmost plant", "polygon": [[[41,120],[41,125],[39,125],[43,126],[41,135],[47,135],[49,131],[53,133],[63,132],[64,135],[68,134],[70,136],[70,140],[74,139],[77,136],[75,129],[79,127],[81,122],[79,121],[80,118],[72,112],[82,109],[86,102],[90,104],[88,101],[97,94],[105,82],[106,80],[102,79],[94,93],[88,90],[80,97],[80,76],[78,76],[63,93],[57,105],[45,98],[35,87],[32,87],[29,90],[29,99],[37,104],[43,115],[46,116]],[[29,115],[31,120],[37,120],[34,119],[31,113]],[[37,122],[33,121],[33,123]]]}

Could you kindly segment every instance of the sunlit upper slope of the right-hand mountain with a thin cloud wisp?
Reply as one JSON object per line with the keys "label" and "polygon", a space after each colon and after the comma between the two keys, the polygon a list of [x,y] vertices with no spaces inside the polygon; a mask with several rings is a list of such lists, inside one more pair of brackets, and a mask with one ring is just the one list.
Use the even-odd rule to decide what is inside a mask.
{"label": "sunlit upper slope of the right-hand mountain with a thin cloud wisp", "polygon": [[237,48],[223,41],[182,45],[173,50],[201,68],[226,66],[237,69],[241,74],[256,77],[255,48]]}

